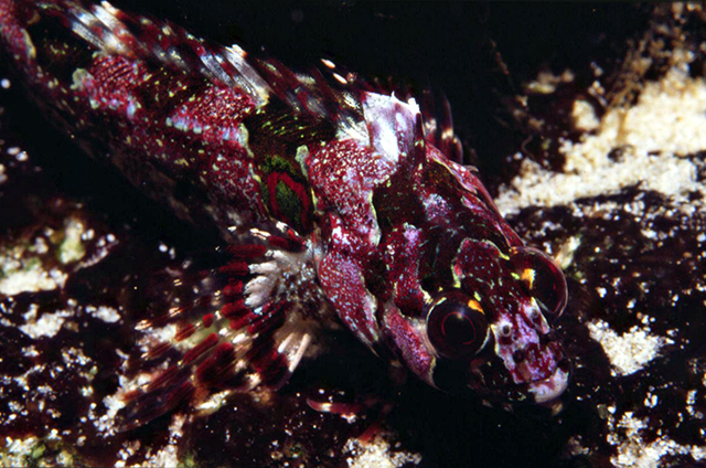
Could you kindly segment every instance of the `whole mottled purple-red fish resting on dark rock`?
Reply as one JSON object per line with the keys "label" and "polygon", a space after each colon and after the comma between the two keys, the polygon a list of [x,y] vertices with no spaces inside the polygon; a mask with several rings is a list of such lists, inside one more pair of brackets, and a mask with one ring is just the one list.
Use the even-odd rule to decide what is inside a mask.
{"label": "whole mottled purple-red fish resting on dark rock", "polygon": [[450,114],[108,2],[0,0],[0,40],[87,153],[222,233],[192,297],[136,323],[121,427],[278,389],[335,328],[443,391],[552,406],[566,390],[564,275],[461,163]]}

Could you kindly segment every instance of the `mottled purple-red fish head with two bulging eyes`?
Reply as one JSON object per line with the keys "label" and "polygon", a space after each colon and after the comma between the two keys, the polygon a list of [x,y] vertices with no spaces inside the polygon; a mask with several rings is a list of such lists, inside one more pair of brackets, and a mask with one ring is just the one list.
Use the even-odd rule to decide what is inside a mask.
{"label": "mottled purple-red fish head with two bulging eyes", "polygon": [[376,205],[386,232],[381,329],[388,345],[441,390],[558,404],[569,377],[552,327],[567,304],[560,267],[524,245],[469,168],[431,148],[405,177],[406,200],[379,195]]}

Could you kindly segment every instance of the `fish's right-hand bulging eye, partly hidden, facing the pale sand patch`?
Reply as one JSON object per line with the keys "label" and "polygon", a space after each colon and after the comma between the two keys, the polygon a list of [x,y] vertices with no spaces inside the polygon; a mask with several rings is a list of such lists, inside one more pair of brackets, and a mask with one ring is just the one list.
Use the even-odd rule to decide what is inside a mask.
{"label": "fish's right-hand bulging eye, partly hidden, facing the pale sand patch", "polygon": [[568,300],[566,278],[554,258],[532,247],[515,247],[512,262],[527,292],[547,313],[558,317]]}

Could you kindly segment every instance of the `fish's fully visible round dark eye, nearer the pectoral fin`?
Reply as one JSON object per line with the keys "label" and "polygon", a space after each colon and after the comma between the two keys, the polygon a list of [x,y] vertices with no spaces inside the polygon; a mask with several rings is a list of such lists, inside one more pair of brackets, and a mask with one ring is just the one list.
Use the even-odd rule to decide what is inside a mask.
{"label": "fish's fully visible round dark eye, nearer the pectoral fin", "polygon": [[475,354],[486,342],[488,330],[480,304],[460,292],[437,299],[427,316],[429,342],[448,359]]}

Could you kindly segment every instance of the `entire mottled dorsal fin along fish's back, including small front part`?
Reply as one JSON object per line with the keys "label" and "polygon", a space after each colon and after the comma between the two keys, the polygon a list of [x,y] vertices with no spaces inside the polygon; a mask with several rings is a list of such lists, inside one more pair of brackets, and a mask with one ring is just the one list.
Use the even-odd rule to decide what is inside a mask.
{"label": "entire mottled dorsal fin along fish's back, including small front part", "polygon": [[[404,84],[365,81],[329,60],[322,60],[321,70],[295,73],[275,59],[253,59],[238,45],[222,46],[195,38],[169,21],[129,14],[107,1],[90,7],[74,0],[42,1],[39,6],[106,54],[237,87],[257,107],[278,100],[295,115],[335,123],[344,134],[357,131],[363,123],[366,94],[393,95],[403,102],[414,98]],[[461,145],[452,130],[448,100],[443,99],[437,111],[431,94],[425,93],[421,115],[427,141],[460,161]]]}

